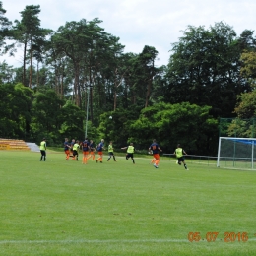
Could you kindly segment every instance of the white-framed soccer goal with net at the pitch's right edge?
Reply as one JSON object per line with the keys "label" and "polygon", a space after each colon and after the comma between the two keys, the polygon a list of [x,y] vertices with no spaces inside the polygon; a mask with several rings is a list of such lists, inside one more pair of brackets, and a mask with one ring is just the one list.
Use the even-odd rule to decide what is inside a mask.
{"label": "white-framed soccer goal with net at the pitch's right edge", "polygon": [[217,167],[254,169],[255,138],[220,137]]}

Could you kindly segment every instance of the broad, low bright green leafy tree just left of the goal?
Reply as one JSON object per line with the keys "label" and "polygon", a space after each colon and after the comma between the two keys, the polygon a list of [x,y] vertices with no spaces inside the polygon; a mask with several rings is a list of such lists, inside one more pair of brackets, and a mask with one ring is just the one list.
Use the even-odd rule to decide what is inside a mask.
{"label": "broad, low bright green leafy tree just left of the goal", "polygon": [[168,153],[180,143],[190,154],[216,154],[218,121],[209,114],[210,110],[210,106],[187,102],[155,104],[143,109],[131,124],[129,139],[146,148],[155,138]]}

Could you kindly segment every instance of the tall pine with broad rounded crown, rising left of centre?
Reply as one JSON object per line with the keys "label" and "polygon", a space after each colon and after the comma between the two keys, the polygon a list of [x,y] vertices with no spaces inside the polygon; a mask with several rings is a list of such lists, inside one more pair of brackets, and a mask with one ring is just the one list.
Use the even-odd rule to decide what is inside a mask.
{"label": "tall pine with broad rounded crown, rising left of centre", "polygon": [[64,54],[73,67],[72,91],[75,104],[86,107],[84,102],[87,102],[87,92],[90,90],[91,121],[94,121],[93,104],[96,109],[105,110],[109,89],[106,85],[111,77],[109,69],[113,70],[111,64],[123,49],[118,42],[119,38],[104,32],[98,26],[100,23],[98,19],[66,23],[51,38],[56,56]]}

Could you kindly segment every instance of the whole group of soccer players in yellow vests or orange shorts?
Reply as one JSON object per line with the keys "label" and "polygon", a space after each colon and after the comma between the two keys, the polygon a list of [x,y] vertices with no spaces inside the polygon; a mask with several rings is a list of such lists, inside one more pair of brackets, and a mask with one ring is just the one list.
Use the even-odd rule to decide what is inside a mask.
{"label": "whole group of soccer players in yellow vests or orange shorts", "polygon": [[[86,138],[83,142],[79,142],[78,140],[76,141],[73,139],[71,142],[69,142],[68,138],[65,138],[64,141],[64,152],[66,155],[66,160],[69,160],[72,158],[72,160],[78,160],[79,157],[79,149],[82,149],[83,151],[83,159],[82,163],[87,164],[87,161],[92,158],[92,160],[95,160],[95,153],[97,152],[98,158],[96,159],[96,163],[103,162],[103,150],[104,150],[104,139],[101,139],[101,141],[96,145],[94,145],[93,140],[88,140]],[[135,164],[135,160],[133,158],[134,154],[134,146],[133,143],[130,143],[129,146],[121,148],[122,150],[127,150],[126,153],[126,160],[130,159],[133,161],[133,164]],[[40,160],[46,160],[46,139],[43,138],[42,142],[40,143],[40,152],[41,152],[41,158]],[[159,163],[160,163],[160,152],[162,150],[160,149],[159,144],[157,141],[154,139],[153,143],[149,147],[149,154],[153,155],[153,159],[151,160],[151,163],[153,163],[153,166],[155,168],[159,168]],[[185,169],[187,168],[187,165],[184,160],[183,155],[187,155],[187,153],[181,148],[180,144],[177,145],[177,148],[174,151],[174,155],[177,158],[176,163],[181,165],[183,163]],[[114,156],[114,149],[113,149],[113,144],[112,142],[109,143],[108,145],[108,159],[109,161],[111,158],[113,158],[114,161],[116,161],[115,156]]]}

